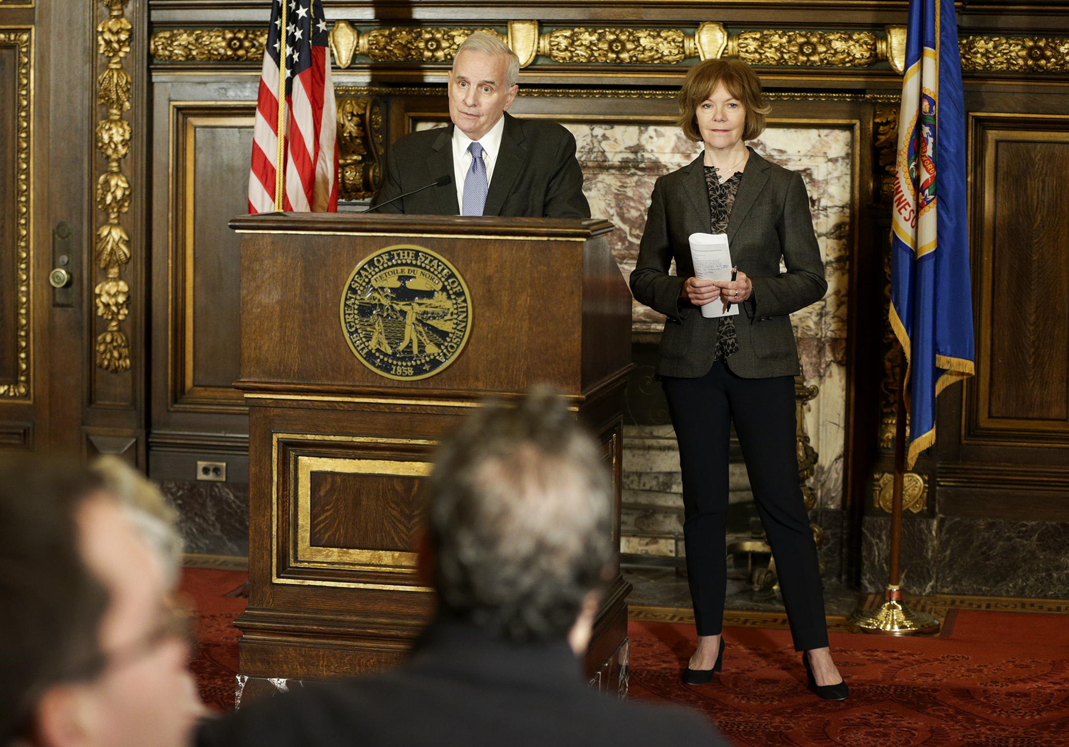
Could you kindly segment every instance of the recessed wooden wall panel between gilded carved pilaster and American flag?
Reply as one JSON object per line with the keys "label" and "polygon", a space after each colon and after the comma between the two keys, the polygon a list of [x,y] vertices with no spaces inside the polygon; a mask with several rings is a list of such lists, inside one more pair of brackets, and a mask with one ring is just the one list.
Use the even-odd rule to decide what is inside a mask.
{"label": "recessed wooden wall panel between gilded carved pilaster and American flag", "polygon": [[246,411],[231,386],[239,374],[241,242],[227,221],[248,212],[254,118],[244,102],[171,106],[171,410]]}

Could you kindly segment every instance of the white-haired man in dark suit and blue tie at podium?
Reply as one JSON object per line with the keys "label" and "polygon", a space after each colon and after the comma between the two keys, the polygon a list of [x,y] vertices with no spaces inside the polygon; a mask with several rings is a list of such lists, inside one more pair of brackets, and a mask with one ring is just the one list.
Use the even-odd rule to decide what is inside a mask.
{"label": "white-haired man in dark suit and blue tie at podium", "polygon": [[449,73],[452,124],[393,143],[370,209],[589,218],[572,134],[556,122],[506,113],[518,74],[520,59],[497,36],[468,36]]}

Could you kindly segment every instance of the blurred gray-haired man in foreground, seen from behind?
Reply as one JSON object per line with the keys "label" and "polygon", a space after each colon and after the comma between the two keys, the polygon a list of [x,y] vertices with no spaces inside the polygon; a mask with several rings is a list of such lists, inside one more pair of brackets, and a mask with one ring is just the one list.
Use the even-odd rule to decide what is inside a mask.
{"label": "blurred gray-haired man in foreground, seen from behind", "polygon": [[611,503],[599,449],[559,399],[480,408],[443,445],[430,488],[421,559],[439,612],[409,662],[262,701],[199,745],[724,745],[697,714],[582,681]]}

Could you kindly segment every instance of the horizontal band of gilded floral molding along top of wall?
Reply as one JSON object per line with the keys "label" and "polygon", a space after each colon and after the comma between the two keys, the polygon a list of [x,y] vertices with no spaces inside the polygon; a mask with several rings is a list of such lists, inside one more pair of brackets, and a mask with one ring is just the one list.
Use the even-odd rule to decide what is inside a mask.
{"label": "horizontal band of gilded floral molding along top of wall", "polygon": [[[722,24],[680,29],[560,28],[542,32],[539,21],[509,21],[508,31],[479,27],[392,27],[358,31],[339,20],[330,31],[338,67],[356,55],[375,62],[449,62],[475,31],[497,34],[520,57],[539,56],[560,64],[679,64],[684,60],[739,57],[759,67],[869,67],[887,61],[897,73],[905,62],[905,27],[876,31],[785,31],[761,29],[729,34]],[[168,29],[152,35],[159,62],[258,62],[265,29]],[[963,36],[965,71],[1069,71],[1069,37]]]}

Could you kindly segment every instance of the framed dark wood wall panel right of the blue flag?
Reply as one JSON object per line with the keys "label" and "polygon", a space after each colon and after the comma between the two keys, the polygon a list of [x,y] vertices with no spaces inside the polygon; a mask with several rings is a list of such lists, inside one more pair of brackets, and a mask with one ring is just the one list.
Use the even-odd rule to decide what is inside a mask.
{"label": "framed dark wood wall panel right of the blue flag", "polygon": [[977,118],[978,376],[965,440],[1069,446],[1069,116]]}

